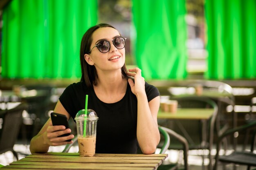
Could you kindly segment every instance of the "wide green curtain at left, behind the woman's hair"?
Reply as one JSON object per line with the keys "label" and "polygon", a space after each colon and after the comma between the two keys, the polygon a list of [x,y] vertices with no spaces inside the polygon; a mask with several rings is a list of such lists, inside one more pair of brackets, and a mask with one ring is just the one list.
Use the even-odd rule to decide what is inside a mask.
{"label": "wide green curtain at left, behind the woman's hair", "polygon": [[76,78],[97,0],[12,0],[3,10],[2,77]]}

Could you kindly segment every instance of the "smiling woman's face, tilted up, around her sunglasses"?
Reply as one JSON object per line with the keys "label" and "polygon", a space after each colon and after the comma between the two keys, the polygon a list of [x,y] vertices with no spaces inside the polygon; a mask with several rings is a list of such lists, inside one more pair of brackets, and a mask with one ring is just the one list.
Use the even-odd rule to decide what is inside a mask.
{"label": "smiling woman's face, tilted up, around her sunglasses", "polygon": [[124,66],[125,49],[117,49],[112,42],[112,39],[117,36],[120,36],[119,32],[111,27],[99,28],[94,31],[90,49],[99,41],[108,40],[110,42],[110,50],[107,53],[101,53],[97,47],[94,47],[90,54],[85,54],[85,60],[88,64],[94,65],[97,71],[113,71]]}

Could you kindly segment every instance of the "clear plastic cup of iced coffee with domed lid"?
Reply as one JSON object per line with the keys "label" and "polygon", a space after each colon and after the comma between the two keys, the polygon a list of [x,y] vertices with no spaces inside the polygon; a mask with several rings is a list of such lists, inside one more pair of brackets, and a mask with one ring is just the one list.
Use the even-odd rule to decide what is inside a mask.
{"label": "clear plastic cup of iced coffee with domed lid", "polygon": [[76,130],[78,137],[79,155],[81,157],[92,157],[95,155],[96,132],[98,116],[92,109],[79,110],[76,113]]}

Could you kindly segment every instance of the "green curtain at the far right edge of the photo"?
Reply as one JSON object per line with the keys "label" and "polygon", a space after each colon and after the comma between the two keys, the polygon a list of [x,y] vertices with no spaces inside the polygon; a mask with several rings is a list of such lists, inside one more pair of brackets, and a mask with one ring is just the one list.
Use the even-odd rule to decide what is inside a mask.
{"label": "green curtain at the far right edge of the photo", "polygon": [[206,0],[209,79],[256,78],[256,1]]}

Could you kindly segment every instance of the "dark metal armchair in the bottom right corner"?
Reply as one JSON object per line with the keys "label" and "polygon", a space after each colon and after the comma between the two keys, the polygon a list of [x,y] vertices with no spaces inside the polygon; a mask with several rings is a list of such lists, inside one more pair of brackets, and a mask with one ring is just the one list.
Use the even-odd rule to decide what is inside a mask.
{"label": "dark metal armchair in the bottom right corner", "polygon": [[213,170],[218,169],[219,162],[247,165],[247,170],[249,170],[251,166],[256,166],[256,154],[254,153],[254,145],[256,142],[256,130],[254,131],[254,133],[252,135],[252,143],[251,143],[250,151],[234,150],[234,152],[232,152],[230,155],[221,155],[221,156],[219,155],[221,142],[225,137],[227,137],[229,135],[233,135],[234,132],[243,132],[245,130],[248,130],[250,128],[255,128],[255,127],[256,127],[256,121],[251,122],[249,124],[245,124],[243,126],[238,126],[236,128],[229,129],[218,138],[218,143],[217,143],[217,148],[216,148],[217,152],[216,152],[216,156],[215,156],[215,166],[214,166]]}

